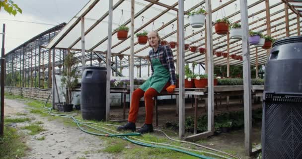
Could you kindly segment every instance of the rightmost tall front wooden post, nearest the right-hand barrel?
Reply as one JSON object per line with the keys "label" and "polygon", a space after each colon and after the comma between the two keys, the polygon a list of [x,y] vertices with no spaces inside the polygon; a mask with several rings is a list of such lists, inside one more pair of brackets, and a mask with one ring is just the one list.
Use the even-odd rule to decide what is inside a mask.
{"label": "rightmost tall front wooden post, nearest the right-hand barrel", "polygon": [[251,156],[252,133],[252,103],[251,103],[251,73],[248,39],[247,0],[240,0],[241,28],[242,28],[242,55],[243,55],[243,88],[244,88],[244,145],[248,156]]}

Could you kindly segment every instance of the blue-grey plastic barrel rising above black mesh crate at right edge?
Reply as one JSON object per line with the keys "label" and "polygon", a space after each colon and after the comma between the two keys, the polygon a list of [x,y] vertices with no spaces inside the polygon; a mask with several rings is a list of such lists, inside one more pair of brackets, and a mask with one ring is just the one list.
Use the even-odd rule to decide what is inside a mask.
{"label": "blue-grey plastic barrel rising above black mesh crate at right edge", "polygon": [[283,38],[273,44],[265,66],[264,90],[302,92],[302,36]]}

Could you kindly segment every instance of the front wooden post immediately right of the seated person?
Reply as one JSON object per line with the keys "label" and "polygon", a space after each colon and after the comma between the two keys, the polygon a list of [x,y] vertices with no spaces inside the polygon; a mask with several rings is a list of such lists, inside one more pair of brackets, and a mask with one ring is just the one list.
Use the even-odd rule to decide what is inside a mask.
{"label": "front wooden post immediately right of the seated person", "polygon": [[178,104],[179,104],[179,110],[178,110],[178,136],[181,139],[185,134],[185,89],[184,89],[184,1],[178,0],[178,73],[179,73],[179,98],[178,98]]}

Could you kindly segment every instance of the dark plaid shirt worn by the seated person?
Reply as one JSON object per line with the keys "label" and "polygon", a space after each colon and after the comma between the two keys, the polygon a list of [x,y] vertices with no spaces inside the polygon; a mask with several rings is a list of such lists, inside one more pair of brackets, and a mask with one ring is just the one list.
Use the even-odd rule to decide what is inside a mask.
{"label": "dark plaid shirt worn by the seated person", "polygon": [[[150,62],[153,59],[159,59],[161,65],[165,67],[167,70],[169,70],[170,72],[170,83],[175,85],[176,84],[175,66],[174,66],[174,59],[173,59],[171,48],[168,46],[161,46],[159,44],[156,52],[154,52],[153,48],[152,50],[150,50],[149,58],[150,58]],[[152,67],[152,63],[151,63],[151,71],[153,75],[154,70]]]}

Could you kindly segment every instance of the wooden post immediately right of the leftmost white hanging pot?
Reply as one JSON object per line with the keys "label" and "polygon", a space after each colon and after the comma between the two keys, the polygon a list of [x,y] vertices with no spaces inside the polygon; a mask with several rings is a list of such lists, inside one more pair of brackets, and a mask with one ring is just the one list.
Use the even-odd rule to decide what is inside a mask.
{"label": "wooden post immediately right of the leftmost white hanging pot", "polygon": [[208,131],[214,132],[214,62],[213,62],[213,34],[212,34],[212,4],[206,0],[206,33],[207,33],[207,61],[208,64]]}

